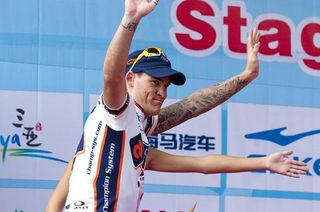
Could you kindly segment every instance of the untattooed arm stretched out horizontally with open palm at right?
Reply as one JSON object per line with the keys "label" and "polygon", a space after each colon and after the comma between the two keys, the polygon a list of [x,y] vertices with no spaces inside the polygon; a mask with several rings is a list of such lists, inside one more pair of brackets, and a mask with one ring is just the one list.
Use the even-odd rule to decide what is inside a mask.
{"label": "untattooed arm stretched out horizontally with open palm at right", "polygon": [[270,154],[266,157],[243,158],[226,155],[202,157],[177,156],[150,148],[147,169],[161,172],[197,172],[204,174],[235,173],[254,170],[270,170],[288,177],[305,175],[305,163],[291,160],[292,151]]}

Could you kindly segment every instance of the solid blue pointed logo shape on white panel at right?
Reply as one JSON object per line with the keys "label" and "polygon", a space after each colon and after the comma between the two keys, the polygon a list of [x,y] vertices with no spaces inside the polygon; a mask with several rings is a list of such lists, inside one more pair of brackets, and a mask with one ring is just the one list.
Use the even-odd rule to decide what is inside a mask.
{"label": "solid blue pointed logo shape on white panel at right", "polygon": [[247,134],[244,137],[248,139],[260,139],[260,140],[270,141],[280,146],[287,146],[302,138],[320,133],[320,129],[318,129],[318,130],[298,133],[295,135],[283,135],[281,132],[286,129],[287,127],[281,127],[281,128],[272,129],[272,130],[265,130],[261,132]]}

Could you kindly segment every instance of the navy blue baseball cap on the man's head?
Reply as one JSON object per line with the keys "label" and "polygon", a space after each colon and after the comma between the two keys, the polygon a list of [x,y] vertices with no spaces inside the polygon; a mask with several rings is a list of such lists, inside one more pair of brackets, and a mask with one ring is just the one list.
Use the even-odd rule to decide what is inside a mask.
{"label": "navy blue baseball cap on the man's head", "polygon": [[[137,50],[129,55],[126,73],[131,69],[134,61],[143,51],[144,49]],[[182,72],[171,68],[171,63],[164,53],[159,56],[142,57],[131,71],[133,73],[144,72],[155,78],[170,77],[171,83],[175,85],[183,85],[186,81],[186,77]]]}

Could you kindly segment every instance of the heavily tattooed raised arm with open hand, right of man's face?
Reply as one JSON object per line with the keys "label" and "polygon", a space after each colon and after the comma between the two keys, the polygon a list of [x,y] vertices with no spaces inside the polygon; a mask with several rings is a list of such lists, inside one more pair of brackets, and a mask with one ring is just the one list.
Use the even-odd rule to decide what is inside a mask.
{"label": "heavily tattooed raised arm with open hand, right of man's face", "polygon": [[185,99],[161,109],[153,134],[164,132],[182,122],[205,113],[236,94],[259,74],[260,34],[250,30],[247,42],[247,65],[242,73],[224,82],[195,91]]}

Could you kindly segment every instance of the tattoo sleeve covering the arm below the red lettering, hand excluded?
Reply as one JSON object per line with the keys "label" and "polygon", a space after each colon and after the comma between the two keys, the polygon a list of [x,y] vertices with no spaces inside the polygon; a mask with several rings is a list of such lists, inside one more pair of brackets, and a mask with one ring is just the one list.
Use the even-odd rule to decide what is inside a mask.
{"label": "tattoo sleeve covering the arm below the red lettering, hand excluded", "polygon": [[192,93],[185,99],[161,109],[153,134],[159,134],[222,104],[249,83],[239,76]]}

